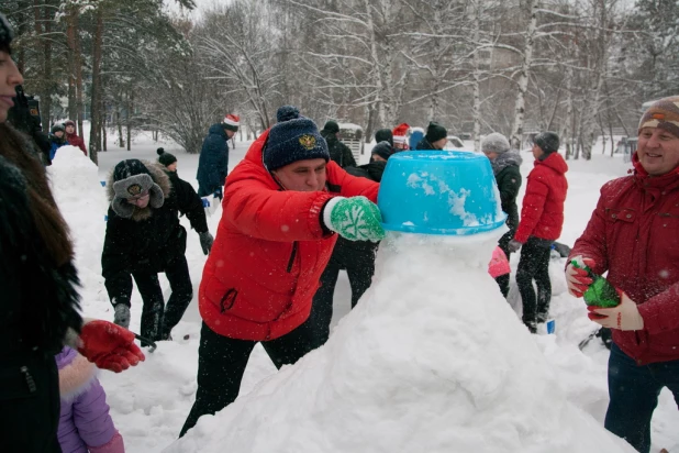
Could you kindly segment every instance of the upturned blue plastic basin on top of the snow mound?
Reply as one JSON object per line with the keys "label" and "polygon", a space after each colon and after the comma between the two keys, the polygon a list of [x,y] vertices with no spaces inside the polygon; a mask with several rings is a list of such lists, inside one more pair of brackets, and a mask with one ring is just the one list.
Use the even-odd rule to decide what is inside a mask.
{"label": "upturned blue plastic basin on top of the snow mound", "polygon": [[387,161],[378,195],[386,230],[475,234],[504,224],[487,157],[458,151],[407,151]]}

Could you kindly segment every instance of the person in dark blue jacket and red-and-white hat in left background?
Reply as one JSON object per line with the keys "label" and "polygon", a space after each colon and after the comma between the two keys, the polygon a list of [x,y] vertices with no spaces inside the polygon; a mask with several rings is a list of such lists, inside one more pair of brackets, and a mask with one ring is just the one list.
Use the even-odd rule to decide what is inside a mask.
{"label": "person in dark blue jacket and red-and-white hat in left background", "polygon": [[240,118],[227,114],[221,123],[212,124],[208,136],[203,141],[198,161],[198,196],[208,197],[214,195],[222,199],[222,187],[229,173],[229,145],[238,131]]}

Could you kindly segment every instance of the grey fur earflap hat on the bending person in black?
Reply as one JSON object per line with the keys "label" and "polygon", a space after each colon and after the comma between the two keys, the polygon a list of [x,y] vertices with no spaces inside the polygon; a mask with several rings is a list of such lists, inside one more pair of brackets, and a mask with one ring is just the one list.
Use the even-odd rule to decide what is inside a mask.
{"label": "grey fur earflap hat on the bending person in black", "polygon": [[156,209],[165,202],[163,189],[153,180],[148,168],[136,158],[122,161],[113,168],[113,194],[111,208],[125,219],[132,218],[135,210],[135,207],[127,202],[129,198],[140,198],[148,194],[148,206]]}

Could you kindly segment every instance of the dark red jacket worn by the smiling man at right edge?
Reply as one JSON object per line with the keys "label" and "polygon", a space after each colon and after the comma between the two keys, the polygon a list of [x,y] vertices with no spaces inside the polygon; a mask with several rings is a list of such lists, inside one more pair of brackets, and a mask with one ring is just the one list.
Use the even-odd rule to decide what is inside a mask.
{"label": "dark red jacket worn by the smiling man at right edge", "polygon": [[679,360],[679,168],[649,177],[633,157],[635,174],[606,183],[570,257],[594,259],[597,274],[634,300],[639,331],[613,330],[613,341],[637,363]]}

